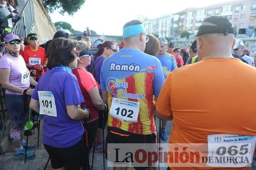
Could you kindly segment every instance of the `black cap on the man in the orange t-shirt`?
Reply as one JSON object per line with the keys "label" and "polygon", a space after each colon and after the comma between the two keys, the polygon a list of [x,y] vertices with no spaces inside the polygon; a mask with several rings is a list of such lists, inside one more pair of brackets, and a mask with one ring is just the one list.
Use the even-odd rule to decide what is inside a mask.
{"label": "black cap on the man in the orange t-shirt", "polygon": [[204,34],[228,33],[235,34],[233,24],[225,16],[210,16],[205,18],[197,31],[197,37]]}

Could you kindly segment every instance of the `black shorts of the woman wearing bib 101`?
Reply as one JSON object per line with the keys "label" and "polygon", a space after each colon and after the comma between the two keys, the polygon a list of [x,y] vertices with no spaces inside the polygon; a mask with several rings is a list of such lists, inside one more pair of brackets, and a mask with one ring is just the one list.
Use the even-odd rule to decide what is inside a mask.
{"label": "black shorts of the woman wearing bib 101", "polygon": [[68,148],[55,148],[44,144],[48,152],[53,169],[65,167],[65,170],[79,170],[83,166],[84,138]]}

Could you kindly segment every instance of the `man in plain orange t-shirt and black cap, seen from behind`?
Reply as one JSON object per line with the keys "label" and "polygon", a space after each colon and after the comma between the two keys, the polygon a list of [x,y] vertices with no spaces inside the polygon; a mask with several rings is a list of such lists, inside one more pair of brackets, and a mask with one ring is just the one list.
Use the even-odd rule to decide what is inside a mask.
{"label": "man in plain orange t-shirt and black cap, seen from behind", "polygon": [[[234,27],[227,18],[211,16],[202,22],[197,32],[201,61],[172,71],[156,103],[157,117],[173,120],[169,143],[201,143],[209,147],[212,146],[209,136],[216,135],[215,141],[224,143],[223,134],[255,139],[256,68],[232,57],[230,50],[234,45]],[[241,88],[245,84],[247,87]],[[253,152],[255,141],[251,144]],[[168,165],[171,170],[249,170],[249,167],[205,167],[206,164],[204,167]]]}

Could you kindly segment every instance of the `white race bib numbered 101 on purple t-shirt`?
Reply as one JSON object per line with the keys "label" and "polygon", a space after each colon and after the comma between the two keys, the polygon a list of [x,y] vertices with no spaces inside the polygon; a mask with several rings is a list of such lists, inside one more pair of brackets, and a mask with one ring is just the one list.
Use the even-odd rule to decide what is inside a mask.
{"label": "white race bib numbered 101 on purple t-shirt", "polygon": [[55,99],[51,91],[37,91],[41,115],[57,117]]}

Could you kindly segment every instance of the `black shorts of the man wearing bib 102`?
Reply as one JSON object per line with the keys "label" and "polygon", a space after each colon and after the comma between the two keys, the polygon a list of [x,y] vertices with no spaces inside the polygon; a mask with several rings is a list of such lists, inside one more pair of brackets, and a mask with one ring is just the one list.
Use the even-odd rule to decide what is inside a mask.
{"label": "black shorts of the man wearing bib 102", "polygon": [[[155,133],[149,134],[149,135],[129,135],[129,136],[122,136],[118,135],[115,132],[111,132],[111,130],[108,128],[107,133],[107,139],[106,139],[106,149],[105,149],[105,158],[107,159],[107,154],[109,151],[107,150],[107,144],[108,143],[157,143],[157,135]],[[107,159],[108,160],[108,159]],[[111,161],[111,160],[108,160]],[[113,161],[111,161],[113,162]],[[132,163],[133,165],[133,163]],[[136,170],[144,170],[145,168],[149,167],[134,167]]]}

